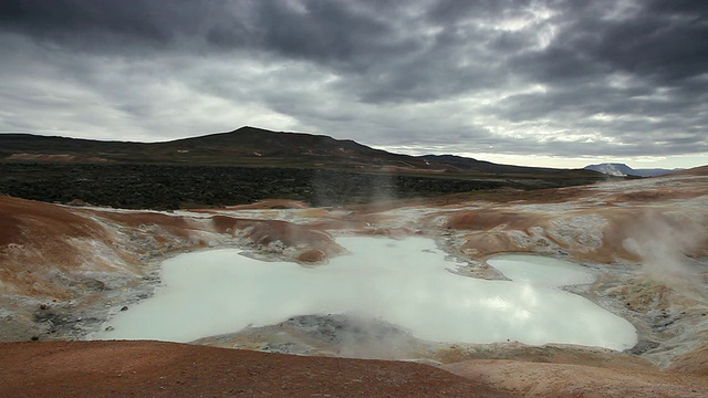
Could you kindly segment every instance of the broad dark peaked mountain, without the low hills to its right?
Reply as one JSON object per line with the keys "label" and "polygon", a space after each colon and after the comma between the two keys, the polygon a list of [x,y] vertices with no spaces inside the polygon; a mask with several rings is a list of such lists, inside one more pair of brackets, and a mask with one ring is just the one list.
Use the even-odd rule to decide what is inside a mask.
{"label": "broad dark peaked mountain, without the low hills to its right", "polygon": [[140,161],[200,165],[398,165],[426,169],[412,156],[389,154],[348,139],[241,127],[165,143],[101,142],[31,134],[0,135],[0,160]]}

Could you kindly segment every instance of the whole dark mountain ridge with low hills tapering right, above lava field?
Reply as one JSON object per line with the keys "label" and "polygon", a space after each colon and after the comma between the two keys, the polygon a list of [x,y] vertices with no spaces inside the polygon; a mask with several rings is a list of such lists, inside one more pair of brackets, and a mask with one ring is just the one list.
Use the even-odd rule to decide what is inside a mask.
{"label": "whole dark mountain ridge with low hills tapering right, above lava field", "polygon": [[241,127],[164,143],[101,142],[31,134],[0,135],[0,161],[160,163],[438,175],[563,175],[593,178],[583,170],[498,165],[452,155],[409,156],[325,135]]}

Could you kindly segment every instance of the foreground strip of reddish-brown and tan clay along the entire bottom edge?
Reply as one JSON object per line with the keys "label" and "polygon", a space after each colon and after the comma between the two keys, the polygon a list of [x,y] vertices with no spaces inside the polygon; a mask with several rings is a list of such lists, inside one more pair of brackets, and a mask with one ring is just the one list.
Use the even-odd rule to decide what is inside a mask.
{"label": "foreground strip of reddish-brown and tan clay along the entire bottom edge", "polygon": [[[158,342],[1,343],[1,397],[706,397],[708,378],[516,360],[442,368]],[[446,370],[449,370],[446,371]],[[459,376],[457,376],[457,375]]]}

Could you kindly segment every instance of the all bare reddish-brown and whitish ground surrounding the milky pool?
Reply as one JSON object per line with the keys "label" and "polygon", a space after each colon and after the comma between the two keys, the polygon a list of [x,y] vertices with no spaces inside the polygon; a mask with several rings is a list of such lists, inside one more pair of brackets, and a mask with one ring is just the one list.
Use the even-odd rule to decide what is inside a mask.
{"label": "all bare reddish-brown and whitish ground surrounding the milky pool", "polygon": [[[100,394],[82,390],[92,396],[92,391],[220,396],[241,390],[283,395],[283,387],[299,388],[287,394],[292,396],[430,396],[433,391],[489,396],[488,388],[500,396],[539,397],[708,394],[705,167],[580,187],[532,191],[507,187],[320,208],[283,199],[135,211],[4,196],[0,197],[0,339],[24,342],[0,345],[3,395],[75,396],[72,385],[58,380],[88,376],[111,380]],[[340,344],[336,332],[323,331],[352,331],[356,320],[312,314],[197,342],[238,350],[82,342],[107,327],[113,314],[149,297],[160,284],[159,263],[166,258],[237,247],[253,256],[326,266],[327,259],[344,254],[335,241],[341,234],[429,237],[467,263],[456,272],[475,277],[500,277],[485,262],[496,253],[539,253],[579,262],[594,269],[598,277],[572,291],[627,318],[637,328],[639,343],[623,353],[516,342],[444,344],[420,341],[381,323],[367,328],[376,333],[358,336],[352,346]],[[386,349],[376,345],[392,336],[397,345],[387,344]],[[77,343],[61,343],[65,341]],[[251,349],[317,357],[261,355]],[[102,363],[100,358],[106,356],[112,360]],[[231,365],[207,359],[212,357]],[[333,357],[417,359],[428,365]],[[156,363],[167,364],[159,367],[164,371],[149,365]],[[192,373],[190,363],[199,370]],[[223,375],[237,364],[260,370],[231,384]],[[308,366],[317,370],[303,370]],[[462,378],[440,374],[441,369]],[[174,381],[167,384],[167,379]],[[223,389],[210,389],[209,380],[218,380],[214,385]],[[136,383],[152,389],[135,390]]]}

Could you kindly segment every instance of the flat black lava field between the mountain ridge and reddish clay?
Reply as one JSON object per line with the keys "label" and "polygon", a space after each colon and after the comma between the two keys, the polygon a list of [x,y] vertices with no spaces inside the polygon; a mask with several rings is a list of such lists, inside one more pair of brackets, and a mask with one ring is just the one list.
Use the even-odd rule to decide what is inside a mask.
{"label": "flat black lava field between the mountain ridge and reddish clay", "polygon": [[562,178],[440,178],[325,169],[137,164],[0,163],[0,192],[49,202],[117,209],[176,210],[246,205],[268,198],[312,206],[429,197],[500,187],[548,188],[586,182]]}

